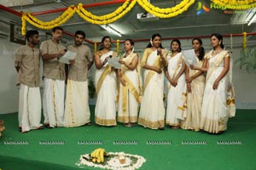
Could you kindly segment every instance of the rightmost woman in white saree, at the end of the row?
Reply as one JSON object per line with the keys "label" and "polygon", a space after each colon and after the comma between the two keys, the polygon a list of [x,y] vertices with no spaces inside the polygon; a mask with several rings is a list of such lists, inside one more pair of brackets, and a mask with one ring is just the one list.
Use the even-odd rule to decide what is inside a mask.
{"label": "rightmost woman in white saree, at the end of the row", "polygon": [[[230,103],[227,94],[230,89],[230,54],[224,50],[223,37],[214,33],[211,36],[212,50],[206,55],[206,68],[191,65],[191,69],[207,71],[206,88],[201,109],[200,128],[208,133],[222,133],[227,129],[230,116]],[[234,99],[233,99],[234,100]]]}

